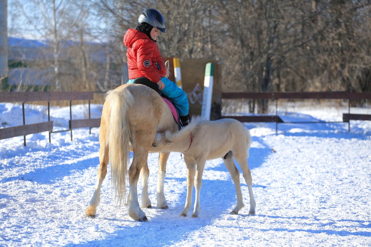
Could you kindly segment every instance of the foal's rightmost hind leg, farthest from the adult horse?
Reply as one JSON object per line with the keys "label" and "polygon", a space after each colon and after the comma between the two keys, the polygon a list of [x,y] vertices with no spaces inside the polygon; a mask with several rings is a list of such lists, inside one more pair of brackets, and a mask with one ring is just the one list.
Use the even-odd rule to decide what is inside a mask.
{"label": "foal's rightmost hind leg, farthest from the adult horse", "polygon": [[250,196],[250,211],[249,214],[255,214],[255,206],[256,202],[254,199],[253,194],[253,180],[251,177],[251,171],[249,169],[249,166],[247,165],[247,153],[246,153],[246,147],[241,148],[239,151],[233,151],[233,156],[236,159],[237,163],[240,165],[241,170],[243,172],[243,178],[245,179],[245,182],[247,184],[247,188],[249,189],[249,196]]}

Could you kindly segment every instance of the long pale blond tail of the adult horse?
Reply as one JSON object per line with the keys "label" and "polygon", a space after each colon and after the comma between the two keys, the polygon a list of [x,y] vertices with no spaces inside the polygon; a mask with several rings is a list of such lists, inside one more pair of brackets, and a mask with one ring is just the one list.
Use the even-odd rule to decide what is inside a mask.
{"label": "long pale blond tail of the adult horse", "polygon": [[106,94],[109,103],[108,159],[111,165],[111,184],[115,188],[116,202],[121,205],[126,199],[126,178],[129,163],[129,121],[128,109],[134,104],[134,98],[129,90],[110,90]]}

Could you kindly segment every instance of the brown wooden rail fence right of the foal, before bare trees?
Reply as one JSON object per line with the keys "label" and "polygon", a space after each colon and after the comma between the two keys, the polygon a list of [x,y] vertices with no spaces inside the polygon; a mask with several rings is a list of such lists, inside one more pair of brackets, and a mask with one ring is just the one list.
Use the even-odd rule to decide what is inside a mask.
{"label": "brown wooden rail fence right of the foal, before bare trees", "polygon": [[[270,99],[276,101],[276,114],[264,116],[222,116],[222,118],[237,119],[242,122],[275,122],[276,132],[278,123],[304,123],[304,122],[287,122],[277,115],[277,102],[280,99],[343,99],[348,100],[348,113],[343,114],[343,122],[348,122],[348,131],[350,131],[349,120],[371,120],[371,114],[351,114],[350,100],[371,99],[371,93],[349,93],[349,92],[287,92],[287,93],[221,93],[222,99]],[[311,121],[305,123],[329,123],[325,121]],[[334,122],[331,122],[334,123]]]}

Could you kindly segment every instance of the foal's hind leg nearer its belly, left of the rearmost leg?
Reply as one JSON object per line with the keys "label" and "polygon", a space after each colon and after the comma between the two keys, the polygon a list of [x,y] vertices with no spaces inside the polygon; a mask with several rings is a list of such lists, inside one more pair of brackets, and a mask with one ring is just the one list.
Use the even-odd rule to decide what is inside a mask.
{"label": "foal's hind leg nearer its belly, left of the rearmost leg", "polygon": [[243,198],[240,185],[240,172],[233,162],[232,152],[229,151],[223,158],[224,164],[226,165],[229,173],[231,174],[234,186],[236,187],[237,205],[230,214],[238,214],[240,209],[243,207]]}

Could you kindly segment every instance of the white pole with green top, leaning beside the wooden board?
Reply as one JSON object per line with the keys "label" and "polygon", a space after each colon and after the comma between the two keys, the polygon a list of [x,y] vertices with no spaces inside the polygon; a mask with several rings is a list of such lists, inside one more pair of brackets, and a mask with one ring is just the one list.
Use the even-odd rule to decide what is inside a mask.
{"label": "white pole with green top, leaning beside the wooden board", "polygon": [[211,98],[213,96],[214,64],[207,63],[205,69],[204,93],[202,97],[201,117],[210,120]]}

